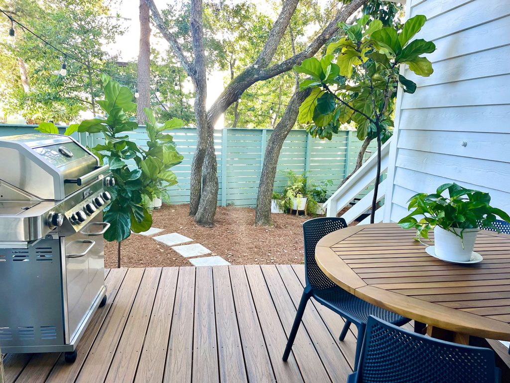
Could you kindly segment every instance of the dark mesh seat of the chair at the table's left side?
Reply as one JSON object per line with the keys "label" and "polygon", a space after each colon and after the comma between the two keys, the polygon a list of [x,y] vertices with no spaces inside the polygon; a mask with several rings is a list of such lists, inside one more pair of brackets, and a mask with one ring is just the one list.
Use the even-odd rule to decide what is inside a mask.
{"label": "dark mesh seat of the chair at the table's left side", "polygon": [[353,322],[366,324],[370,315],[390,322],[395,326],[401,326],[410,321],[410,319],[402,317],[401,315],[374,306],[343,290],[339,286],[322,290],[314,289],[312,295],[320,304],[334,310],[341,316],[347,315],[350,318],[346,319],[352,319]]}

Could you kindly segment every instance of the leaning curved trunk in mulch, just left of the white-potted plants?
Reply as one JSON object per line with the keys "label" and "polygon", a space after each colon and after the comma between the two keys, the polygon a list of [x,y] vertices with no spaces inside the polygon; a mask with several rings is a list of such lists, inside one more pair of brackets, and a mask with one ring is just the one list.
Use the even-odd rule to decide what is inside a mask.
{"label": "leaning curved trunk in mulch, just left of the white-potted plants", "polygon": [[273,194],[274,177],[276,176],[276,164],[278,156],[284,145],[285,138],[289,135],[292,127],[296,123],[299,113],[299,106],[308,97],[311,89],[296,91],[290,99],[289,105],[285,109],[282,119],[278,122],[271,137],[267,141],[266,152],[264,154],[264,164],[259,183],[259,195],[257,197],[257,207],[255,210],[255,224],[257,226],[271,225],[271,196]]}

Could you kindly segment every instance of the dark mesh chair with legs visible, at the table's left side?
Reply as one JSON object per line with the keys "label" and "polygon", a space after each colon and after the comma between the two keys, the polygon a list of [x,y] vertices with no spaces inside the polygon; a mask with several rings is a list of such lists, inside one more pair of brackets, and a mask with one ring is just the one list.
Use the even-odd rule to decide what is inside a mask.
{"label": "dark mesh chair with legs visible, at the table's left side", "polygon": [[315,261],[315,246],[326,234],[346,227],[347,224],[343,218],[333,217],[314,218],[303,223],[304,276],[307,285],[305,286],[301,296],[294,324],[289,334],[289,340],[283,355],[284,361],[287,361],[289,358],[299,324],[301,323],[304,308],[306,307],[308,300],[312,297],[320,304],[345,318],[345,324],[339,337],[340,341],[344,340],[352,323],[358,327],[358,345],[356,345],[354,371],[358,366],[361,345],[363,344],[363,334],[365,333],[365,326],[370,315],[384,319],[398,326],[410,321],[409,319],[385,310],[384,308],[374,306],[373,304],[343,290],[319,269],[319,266]]}

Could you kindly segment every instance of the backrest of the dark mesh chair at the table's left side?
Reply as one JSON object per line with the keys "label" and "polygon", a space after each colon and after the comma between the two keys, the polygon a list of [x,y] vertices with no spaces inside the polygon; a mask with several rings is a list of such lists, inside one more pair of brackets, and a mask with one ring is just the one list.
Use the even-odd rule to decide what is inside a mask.
{"label": "backrest of the dark mesh chair at the table's left side", "polygon": [[311,284],[313,288],[326,289],[336,286],[317,266],[315,246],[324,235],[345,227],[345,220],[336,217],[314,218],[303,223],[304,272],[307,284]]}

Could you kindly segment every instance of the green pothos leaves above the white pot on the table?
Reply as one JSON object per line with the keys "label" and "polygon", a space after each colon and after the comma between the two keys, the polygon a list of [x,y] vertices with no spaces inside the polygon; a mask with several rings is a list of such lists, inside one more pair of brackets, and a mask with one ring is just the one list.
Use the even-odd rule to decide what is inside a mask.
{"label": "green pothos leaves above the white pot on the table", "polygon": [[[449,197],[442,196],[446,190]],[[490,206],[489,193],[467,189],[456,183],[445,183],[434,194],[418,193],[408,202],[407,210],[414,210],[398,224],[404,229],[416,229],[417,238],[428,238],[428,232],[435,226],[462,238],[465,229],[479,226],[499,232],[493,225],[497,217],[510,223],[507,213]],[[462,230],[457,234],[454,228]]]}

